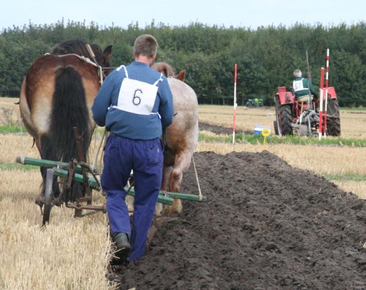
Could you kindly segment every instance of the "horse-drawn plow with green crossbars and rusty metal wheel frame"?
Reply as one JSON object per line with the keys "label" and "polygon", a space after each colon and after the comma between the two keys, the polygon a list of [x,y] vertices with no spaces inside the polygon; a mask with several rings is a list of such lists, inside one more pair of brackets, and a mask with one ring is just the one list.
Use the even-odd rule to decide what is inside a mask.
{"label": "horse-drawn plow with green crossbars and rusty metal wheel frame", "polygon": [[[101,185],[98,179],[98,174],[95,169],[92,168],[90,164],[87,164],[83,160],[83,152],[81,149],[82,136],[79,136],[78,130],[74,128],[74,135],[77,145],[78,157],[77,159],[73,159],[69,163],[59,162],[59,161],[49,161],[43,159],[35,159],[29,158],[25,156],[18,156],[16,158],[17,163],[35,165],[46,167],[47,169],[47,177],[46,177],[46,189],[44,200],[41,201],[43,206],[43,225],[49,222],[50,212],[53,206],[61,206],[65,205],[66,208],[75,209],[75,217],[82,217],[82,210],[95,210],[95,211],[103,211],[107,212],[107,205],[104,202],[103,205],[92,205],[92,191],[101,191]],[[54,177],[58,177],[58,180]],[[61,183],[61,193],[59,196],[54,196],[52,192],[53,182]],[[125,187],[125,191],[127,195],[134,196],[135,191],[133,187],[133,176],[131,176],[128,180],[128,184]],[[78,194],[75,193],[73,187],[75,184],[78,184],[82,188],[82,196],[79,197]],[[104,193],[102,193],[105,195]],[[193,201],[201,201],[205,202],[206,197],[202,196],[200,198],[199,195],[193,194],[185,194],[185,193],[173,193],[160,191],[158,202],[165,205],[172,205],[173,199],[186,199]]]}

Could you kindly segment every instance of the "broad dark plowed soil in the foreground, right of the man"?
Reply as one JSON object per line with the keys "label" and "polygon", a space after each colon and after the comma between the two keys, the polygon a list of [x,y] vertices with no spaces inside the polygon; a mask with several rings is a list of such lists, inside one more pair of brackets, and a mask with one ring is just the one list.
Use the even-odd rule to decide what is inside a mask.
{"label": "broad dark plowed soil in the foreground, right of the man", "polygon": [[[121,289],[365,289],[366,201],[262,153],[195,154],[206,203],[183,202]],[[182,193],[197,194],[193,168]]]}

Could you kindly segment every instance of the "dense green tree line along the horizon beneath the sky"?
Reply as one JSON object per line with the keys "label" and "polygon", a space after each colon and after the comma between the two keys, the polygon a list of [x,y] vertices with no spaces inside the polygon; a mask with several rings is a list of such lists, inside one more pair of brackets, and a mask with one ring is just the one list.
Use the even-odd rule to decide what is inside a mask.
{"label": "dense green tree line along the horizon beneath the sky", "polygon": [[92,22],[58,21],[51,25],[24,25],[0,33],[0,96],[18,96],[23,77],[32,62],[56,44],[80,39],[102,49],[113,45],[111,64],[133,61],[133,42],[148,33],[159,42],[157,61],[171,64],[176,72],[187,70],[186,82],[195,90],[199,103],[232,104],[234,64],[238,64],[237,96],[242,105],[249,98],[262,97],[273,104],[278,86],[291,86],[292,72],[299,68],[306,76],[308,50],[312,81],[319,87],[320,67],[326,65],[330,48],[329,86],[334,86],[341,106],[366,106],[365,22],[332,26],[297,23],[286,27],[257,29],[207,26],[191,23],[168,26],[163,23],[127,28],[99,26]]}

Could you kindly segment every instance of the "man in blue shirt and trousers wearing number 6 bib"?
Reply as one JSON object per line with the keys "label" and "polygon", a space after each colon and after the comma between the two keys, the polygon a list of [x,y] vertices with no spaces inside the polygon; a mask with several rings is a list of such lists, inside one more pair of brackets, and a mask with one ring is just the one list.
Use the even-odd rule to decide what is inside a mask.
{"label": "man in blue shirt and trousers wearing number 6 bib", "polygon": [[[143,256],[147,232],[161,186],[162,128],[173,121],[173,97],[168,81],[150,68],[158,42],[152,35],[134,43],[135,62],[115,69],[103,82],[92,107],[99,126],[111,131],[101,176],[107,212],[117,250],[127,261]],[[132,230],[124,187],[133,169],[135,201]]]}

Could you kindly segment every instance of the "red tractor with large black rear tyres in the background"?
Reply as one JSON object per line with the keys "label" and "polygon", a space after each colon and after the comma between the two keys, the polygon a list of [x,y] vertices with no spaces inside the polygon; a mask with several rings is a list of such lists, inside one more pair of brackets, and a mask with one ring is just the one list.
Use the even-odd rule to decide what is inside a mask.
{"label": "red tractor with large black rear tyres in the background", "polygon": [[[325,102],[325,88],[323,90]],[[308,99],[307,102],[299,102],[292,92],[286,92],[286,87],[278,87],[277,93],[274,94],[274,102],[276,108],[274,131],[277,135],[292,135],[294,133],[300,136],[318,135],[318,100]],[[324,102],[323,104],[325,104]],[[328,87],[326,130],[328,136],[341,134],[339,105],[334,87]],[[322,125],[322,132],[324,132],[324,125]]]}

